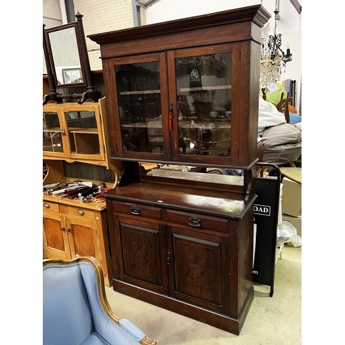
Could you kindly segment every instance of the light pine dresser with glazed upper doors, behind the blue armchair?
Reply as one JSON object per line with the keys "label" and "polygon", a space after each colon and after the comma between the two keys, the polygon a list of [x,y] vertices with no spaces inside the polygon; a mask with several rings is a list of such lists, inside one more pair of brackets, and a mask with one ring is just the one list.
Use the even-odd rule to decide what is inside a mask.
{"label": "light pine dresser with glazed upper doors, behind the blue armchair", "polygon": [[[43,185],[81,179],[95,185],[104,182],[98,170],[108,171],[116,185],[121,162],[109,159],[109,132],[106,101],[78,103],[47,103],[43,106],[43,163],[47,175]],[[85,179],[86,171],[72,179],[66,164],[83,164],[83,170],[98,179]],[[84,177],[84,178],[83,178]],[[106,202],[81,204],[75,199],[59,199],[43,195],[43,258],[72,259],[90,255],[101,264],[106,286],[112,284],[108,241]]]}

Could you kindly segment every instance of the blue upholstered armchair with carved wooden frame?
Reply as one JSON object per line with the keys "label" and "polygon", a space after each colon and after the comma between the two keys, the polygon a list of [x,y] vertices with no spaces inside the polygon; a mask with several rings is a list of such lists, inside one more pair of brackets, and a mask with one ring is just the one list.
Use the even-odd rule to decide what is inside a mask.
{"label": "blue upholstered armchair with carved wooden frame", "polygon": [[112,312],[93,257],[43,260],[43,345],[156,344]]}

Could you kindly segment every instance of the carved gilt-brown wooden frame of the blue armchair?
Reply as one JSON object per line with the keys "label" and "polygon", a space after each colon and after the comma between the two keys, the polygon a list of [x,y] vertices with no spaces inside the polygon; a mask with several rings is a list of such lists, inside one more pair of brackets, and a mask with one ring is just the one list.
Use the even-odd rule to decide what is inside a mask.
{"label": "carved gilt-brown wooden frame of the blue armchair", "polygon": [[[120,326],[119,322],[121,321],[122,318],[119,317],[119,315],[117,315],[116,313],[114,313],[114,311],[112,311],[112,308],[108,302],[108,299],[106,297],[106,289],[104,287],[104,281],[103,281],[103,270],[102,270],[99,262],[97,262],[97,260],[95,259],[95,257],[83,256],[83,257],[77,257],[77,258],[71,259],[71,260],[44,259],[43,260],[43,268],[46,266],[50,266],[50,265],[64,266],[66,264],[73,264],[73,263],[77,263],[77,262],[88,262],[89,264],[91,264],[93,266],[93,268],[95,268],[95,272],[97,275],[99,299],[101,301],[103,309],[106,312],[106,314],[108,315],[108,317],[112,320],[112,322],[115,322],[115,324]],[[156,340],[150,339],[149,337],[146,336],[141,340],[141,342],[139,342],[139,344],[157,345],[157,342],[156,342]]]}

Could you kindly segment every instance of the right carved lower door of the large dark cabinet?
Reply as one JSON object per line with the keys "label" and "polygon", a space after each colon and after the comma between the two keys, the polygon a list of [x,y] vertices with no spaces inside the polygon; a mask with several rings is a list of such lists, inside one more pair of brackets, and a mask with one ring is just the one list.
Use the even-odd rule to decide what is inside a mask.
{"label": "right carved lower door of the large dark cabinet", "polygon": [[229,313],[229,239],[168,226],[170,296]]}

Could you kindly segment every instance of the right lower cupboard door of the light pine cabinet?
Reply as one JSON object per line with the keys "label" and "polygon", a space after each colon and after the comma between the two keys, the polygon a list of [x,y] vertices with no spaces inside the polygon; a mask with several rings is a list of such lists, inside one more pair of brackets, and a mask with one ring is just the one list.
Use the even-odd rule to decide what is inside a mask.
{"label": "right lower cupboard door of the light pine cabinet", "polygon": [[66,232],[72,257],[90,255],[102,264],[95,221],[81,217],[68,217]]}

